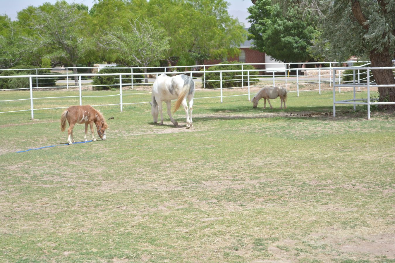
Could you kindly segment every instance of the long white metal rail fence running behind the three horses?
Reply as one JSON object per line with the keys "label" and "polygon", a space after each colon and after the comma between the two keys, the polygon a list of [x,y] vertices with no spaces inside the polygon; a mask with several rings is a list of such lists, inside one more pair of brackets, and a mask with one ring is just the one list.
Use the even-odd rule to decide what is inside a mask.
{"label": "long white metal rail fence running behind the three horses", "polygon": [[[208,82],[210,81],[219,81],[220,82],[220,88],[217,89],[209,89],[209,90],[220,90],[220,96],[211,96],[211,97],[195,97],[194,99],[205,99],[205,98],[220,98],[221,103],[223,102],[223,98],[224,97],[234,97],[234,96],[247,96],[248,101],[251,98],[251,95],[254,95],[250,92],[250,87],[252,86],[256,86],[257,84],[259,84],[259,86],[275,86],[276,83],[281,83],[282,85],[285,85],[286,87],[293,87],[295,88],[295,91],[289,91],[289,92],[296,92],[297,96],[299,96],[299,92],[301,92],[302,90],[299,90],[299,85],[301,84],[316,84],[318,86],[317,89],[311,89],[311,90],[303,90],[303,91],[318,91],[321,94],[321,85],[322,84],[329,84],[329,86],[333,85],[333,88],[335,87],[339,87],[339,92],[340,92],[340,88],[341,87],[350,87],[349,85],[346,85],[345,82],[341,82],[341,71],[344,71],[345,69],[349,69],[348,67],[336,67],[336,70],[338,72],[338,75],[335,74],[335,71],[333,71],[334,74],[331,74],[330,72],[332,71],[333,67],[332,65],[335,64],[335,62],[326,62],[326,64],[329,64],[330,67],[320,67],[320,68],[294,68],[294,69],[287,69],[286,71],[284,70],[276,70],[276,69],[244,69],[244,65],[269,65],[270,63],[257,63],[257,64],[220,64],[220,65],[240,65],[241,69],[238,70],[222,70],[222,71],[210,71],[208,69],[209,66],[213,66],[213,65],[195,65],[195,66],[188,66],[190,69],[196,69],[201,67],[201,70],[199,71],[171,71],[170,69],[179,69],[179,68],[188,68],[185,66],[182,67],[154,67],[154,69],[162,69],[163,71],[161,72],[154,72],[154,73],[136,73],[133,72],[134,69],[137,68],[122,68],[119,67],[118,69],[130,69],[130,73],[76,73],[76,74],[69,74],[68,73],[68,69],[66,69],[66,74],[57,74],[56,77],[60,77],[60,78],[65,78],[66,79],[66,85],[55,85],[55,86],[50,86],[50,87],[45,87],[45,88],[56,88],[56,89],[69,89],[70,85],[69,85],[69,80],[73,79],[75,77],[77,77],[77,88],[79,90],[79,95],[78,96],[63,96],[63,97],[34,97],[33,96],[33,91],[38,90],[38,89],[45,89],[44,87],[40,87],[38,85],[39,78],[51,78],[54,77],[54,75],[52,74],[36,74],[36,75],[13,75],[13,76],[0,76],[0,78],[28,78],[29,80],[29,86],[26,88],[15,88],[15,89],[7,89],[7,90],[0,90],[0,113],[9,113],[9,112],[21,112],[21,111],[30,111],[31,112],[31,118],[34,119],[34,111],[35,110],[46,110],[46,109],[57,109],[57,108],[67,108],[67,107],[51,107],[51,108],[34,108],[34,101],[36,99],[57,99],[57,98],[79,98],[79,104],[82,105],[83,103],[83,98],[84,97],[109,97],[109,96],[116,96],[119,97],[119,103],[113,103],[113,104],[98,104],[98,105],[92,105],[92,106],[120,106],[120,111],[123,110],[123,105],[126,104],[138,104],[138,103],[148,103],[147,102],[137,102],[137,103],[124,103],[122,101],[122,98],[125,95],[136,95],[137,93],[125,93],[124,91],[122,91],[122,87],[124,86],[130,86],[132,89],[134,87],[134,85],[136,85],[137,83],[136,81],[136,77],[137,75],[158,75],[158,74],[162,74],[162,73],[167,73],[167,74],[173,74],[173,73],[183,73],[183,74],[188,74],[190,76],[192,76],[194,78],[195,82],[201,82],[202,83],[202,90],[208,90],[205,89],[205,86]],[[290,63],[292,64],[292,63]],[[295,63],[294,63],[295,64]],[[314,63],[314,64],[319,64],[319,63]],[[367,63],[369,64],[369,63]],[[86,67],[84,67],[83,69],[87,69]],[[139,68],[139,69],[144,69],[144,68]],[[150,68],[152,69],[152,68]],[[23,69],[19,69],[19,70],[23,70]],[[34,69],[36,70],[36,69]],[[39,69],[37,69],[39,70]],[[359,83],[360,81],[362,81],[362,79],[359,78],[360,76],[360,70],[366,71],[366,68],[356,68],[357,73],[355,73],[354,71],[354,79],[357,79],[357,83]],[[135,70],[136,71],[136,70]],[[252,81],[250,80],[250,73],[254,71],[259,71],[265,75],[254,75],[254,79],[255,78],[259,78],[259,83],[257,83],[257,81]],[[295,71],[296,74],[295,75],[290,75],[291,71]],[[299,74],[300,72],[305,73],[304,75]],[[38,72],[38,71],[36,71]],[[206,73],[220,73],[220,78],[218,80],[207,80],[206,78]],[[231,73],[231,72],[238,72],[240,75],[237,75],[236,79],[232,79],[231,81],[238,81],[240,82],[240,86],[239,88],[245,88],[244,87],[244,82],[247,82],[247,89],[246,89],[246,93],[240,94],[240,95],[224,95],[223,91],[229,88],[223,88],[223,82],[226,80],[223,80],[223,76],[226,75],[227,73]],[[267,74],[270,74],[270,76],[268,76]],[[195,76],[194,76],[195,75]],[[88,80],[90,78],[92,78],[92,76],[114,76],[115,78],[119,78],[119,84],[115,84],[116,86],[119,86],[119,93],[114,94],[114,95],[97,95],[97,96],[87,96],[87,95],[83,95],[83,80]],[[122,76],[130,76],[130,82],[128,83],[122,83]],[[33,85],[33,79],[36,79],[36,85]],[[369,78],[369,77],[368,77]],[[129,78],[128,78],[129,79]],[[337,82],[337,84],[336,84]],[[138,83],[139,85],[141,85],[140,83]],[[148,85],[152,85],[152,80]],[[336,85],[336,86],[335,86]],[[86,86],[95,86],[95,85],[91,85],[88,84]],[[108,86],[108,85],[105,85]],[[2,99],[2,95],[1,92],[2,91],[8,91],[8,90],[29,90],[30,91],[30,97],[29,98],[25,98],[25,99],[9,99],[9,100],[4,100]],[[150,92],[146,92],[146,93],[138,93],[138,94],[147,94]],[[30,101],[30,109],[28,110],[22,110],[22,109],[15,109],[15,110],[8,110],[8,111],[2,111],[1,110],[1,104],[4,102],[11,102],[11,101],[23,101],[23,100],[29,100]]]}

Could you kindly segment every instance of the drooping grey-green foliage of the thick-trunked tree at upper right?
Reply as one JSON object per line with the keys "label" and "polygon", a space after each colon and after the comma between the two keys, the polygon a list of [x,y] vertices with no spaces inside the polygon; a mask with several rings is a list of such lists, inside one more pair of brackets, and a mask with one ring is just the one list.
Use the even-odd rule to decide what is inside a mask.
{"label": "drooping grey-green foliage of the thick-trunked tree at upper right", "polygon": [[372,52],[384,52],[392,59],[395,53],[395,2],[356,2],[361,2],[365,26],[355,19],[352,1],[330,2],[329,6],[322,8],[325,19],[321,24],[323,34],[318,46],[327,58],[339,61],[346,61],[351,56],[371,59]]}

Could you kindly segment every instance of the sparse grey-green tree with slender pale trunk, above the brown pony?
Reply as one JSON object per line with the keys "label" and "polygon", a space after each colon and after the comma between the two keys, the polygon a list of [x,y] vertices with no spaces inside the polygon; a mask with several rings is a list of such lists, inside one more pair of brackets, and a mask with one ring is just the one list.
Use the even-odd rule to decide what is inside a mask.
{"label": "sparse grey-green tree with slender pale trunk, above the brown pony", "polygon": [[[32,7],[26,18],[34,32],[30,46],[44,48],[46,57],[71,65],[77,73],[77,63],[86,61],[87,53],[94,46],[87,34],[89,18],[86,7],[66,1]],[[75,77],[76,84],[77,81]]]}

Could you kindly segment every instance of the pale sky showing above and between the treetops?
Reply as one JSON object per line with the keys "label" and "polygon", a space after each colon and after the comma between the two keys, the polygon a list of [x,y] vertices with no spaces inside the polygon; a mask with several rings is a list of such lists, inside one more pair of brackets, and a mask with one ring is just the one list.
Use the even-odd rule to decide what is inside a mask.
{"label": "pale sky showing above and between the treetops", "polygon": [[[94,0],[66,0],[69,3],[82,3],[91,8]],[[246,27],[249,23],[246,21],[248,17],[247,8],[252,6],[251,0],[227,0],[230,3],[229,15],[239,19]],[[0,0],[0,14],[6,13],[12,20],[15,20],[17,13],[28,6],[41,6],[45,2],[55,3],[56,0]]]}

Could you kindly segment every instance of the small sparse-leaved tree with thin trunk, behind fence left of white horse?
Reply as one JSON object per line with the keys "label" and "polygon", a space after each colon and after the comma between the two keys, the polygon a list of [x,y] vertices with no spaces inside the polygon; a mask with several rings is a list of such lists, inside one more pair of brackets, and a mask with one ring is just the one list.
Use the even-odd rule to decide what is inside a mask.
{"label": "small sparse-leaved tree with thin trunk, behind fence left of white horse", "polygon": [[[154,28],[148,21],[134,21],[130,22],[130,31],[117,27],[107,32],[101,45],[118,52],[123,60],[132,65],[158,66],[159,60],[166,58],[169,37],[164,35],[163,29]],[[147,73],[146,68],[144,72]]]}

